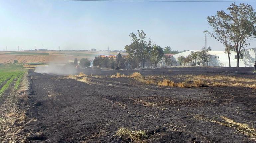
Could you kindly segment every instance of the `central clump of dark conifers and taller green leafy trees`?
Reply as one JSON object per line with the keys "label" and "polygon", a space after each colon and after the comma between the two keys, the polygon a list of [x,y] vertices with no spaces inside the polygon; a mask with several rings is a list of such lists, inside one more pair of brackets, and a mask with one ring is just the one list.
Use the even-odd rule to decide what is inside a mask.
{"label": "central clump of dark conifers and taller green leafy trees", "polygon": [[116,58],[96,56],[93,60],[93,66],[111,69],[134,69],[157,67],[163,59],[164,53],[179,53],[172,51],[169,46],[162,49],[161,46],[152,44],[151,38],[146,40],[146,33],[138,30],[138,33],[129,35],[132,39],[130,45],[124,47],[127,55],[120,53]]}

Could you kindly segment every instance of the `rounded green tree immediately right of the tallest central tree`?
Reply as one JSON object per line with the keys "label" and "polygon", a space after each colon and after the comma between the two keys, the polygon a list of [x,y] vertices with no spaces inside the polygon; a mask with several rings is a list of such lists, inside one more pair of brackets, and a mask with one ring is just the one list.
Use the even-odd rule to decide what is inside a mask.
{"label": "rounded green tree immediately right of the tallest central tree", "polygon": [[152,52],[150,53],[150,60],[157,67],[157,64],[162,60],[164,51],[160,46],[153,45]]}

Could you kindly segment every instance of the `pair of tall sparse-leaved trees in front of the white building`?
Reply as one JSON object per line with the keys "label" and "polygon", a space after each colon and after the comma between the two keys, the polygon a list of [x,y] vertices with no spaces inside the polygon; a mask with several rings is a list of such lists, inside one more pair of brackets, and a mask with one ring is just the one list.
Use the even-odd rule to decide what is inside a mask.
{"label": "pair of tall sparse-leaved trees in front of the white building", "polygon": [[230,67],[230,54],[235,51],[237,54],[237,67],[243,49],[249,45],[248,40],[256,37],[256,12],[250,5],[241,3],[231,4],[227,8],[229,13],[223,10],[217,11],[216,16],[207,17],[212,31],[204,31],[222,43],[225,52],[228,54]]}

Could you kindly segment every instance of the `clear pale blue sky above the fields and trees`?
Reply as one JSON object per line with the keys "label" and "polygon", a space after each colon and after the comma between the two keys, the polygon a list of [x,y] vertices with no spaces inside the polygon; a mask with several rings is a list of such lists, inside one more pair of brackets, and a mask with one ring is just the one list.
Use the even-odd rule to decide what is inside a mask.
{"label": "clear pale blue sky above the fields and trees", "polygon": [[[232,2],[95,2],[0,0],[0,50],[123,50],[131,32],[143,29],[153,42],[173,50],[199,50],[207,16]],[[236,2],[240,3],[240,2]],[[245,2],[256,8],[256,2]],[[256,47],[256,41],[250,42]],[[212,50],[223,46],[207,36]]]}

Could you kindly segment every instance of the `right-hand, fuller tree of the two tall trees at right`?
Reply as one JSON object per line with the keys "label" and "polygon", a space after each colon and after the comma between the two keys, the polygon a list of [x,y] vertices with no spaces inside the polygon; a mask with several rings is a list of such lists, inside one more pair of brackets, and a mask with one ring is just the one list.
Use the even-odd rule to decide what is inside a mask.
{"label": "right-hand, fuller tree of the two tall trees at right", "polygon": [[241,50],[250,43],[249,39],[256,35],[256,12],[251,5],[232,3],[229,8],[229,37],[237,55],[236,67],[239,67]]}

